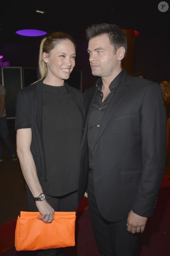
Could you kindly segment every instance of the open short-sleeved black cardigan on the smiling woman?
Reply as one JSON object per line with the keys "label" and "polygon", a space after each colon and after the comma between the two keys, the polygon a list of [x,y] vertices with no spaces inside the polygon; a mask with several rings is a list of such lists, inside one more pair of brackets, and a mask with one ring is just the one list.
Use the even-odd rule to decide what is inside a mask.
{"label": "open short-sleeved black cardigan on the smiling woman", "polygon": [[[83,93],[64,83],[76,102],[83,120]],[[30,150],[35,162],[39,180],[46,180],[45,154],[42,136],[42,86],[43,79],[27,86],[18,93],[16,101],[15,130],[31,128],[32,141]]]}

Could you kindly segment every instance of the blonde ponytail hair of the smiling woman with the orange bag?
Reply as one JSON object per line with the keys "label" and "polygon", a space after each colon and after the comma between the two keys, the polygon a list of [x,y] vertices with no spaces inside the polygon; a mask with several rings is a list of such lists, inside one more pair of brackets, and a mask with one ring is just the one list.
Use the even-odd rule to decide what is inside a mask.
{"label": "blonde ponytail hair of the smiling woman with the orange bag", "polygon": [[43,52],[50,54],[50,51],[57,45],[57,43],[64,40],[70,40],[76,48],[75,40],[64,32],[54,32],[43,38],[41,41],[38,61],[40,80],[47,75],[47,63],[43,60]]}

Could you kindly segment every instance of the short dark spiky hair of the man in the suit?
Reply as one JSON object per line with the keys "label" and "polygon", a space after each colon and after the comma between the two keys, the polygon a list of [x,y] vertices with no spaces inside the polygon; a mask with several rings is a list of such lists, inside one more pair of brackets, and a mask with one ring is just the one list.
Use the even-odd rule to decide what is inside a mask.
{"label": "short dark spiky hair of the man in the suit", "polygon": [[127,53],[127,38],[122,29],[115,24],[92,24],[86,29],[86,38],[92,39],[96,36],[107,34],[110,44],[114,47],[114,54],[123,46],[125,48],[125,56]]}

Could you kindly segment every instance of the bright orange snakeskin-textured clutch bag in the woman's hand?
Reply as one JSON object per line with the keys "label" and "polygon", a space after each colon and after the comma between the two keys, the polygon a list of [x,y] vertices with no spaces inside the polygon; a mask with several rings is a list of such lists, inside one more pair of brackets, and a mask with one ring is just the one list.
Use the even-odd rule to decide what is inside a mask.
{"label": "bright orange snakeskin-textured clutch bag in the woman's hand", "polygon": [[75,245],[76,212],[55,212],[51,223],[38,220],[39,212],[20,212],[15,230],[17,251],[33,251]]}

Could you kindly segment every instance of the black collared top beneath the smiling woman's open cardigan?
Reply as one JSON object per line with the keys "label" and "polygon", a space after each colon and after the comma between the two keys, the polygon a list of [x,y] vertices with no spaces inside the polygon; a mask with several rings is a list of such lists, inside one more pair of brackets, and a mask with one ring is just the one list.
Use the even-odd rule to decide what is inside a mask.
{"label": "black collared top beneath the smiling woman's open cardigan", "polygon": [[66,86],[43,84],[43,143],[47,195],[62,196],[78,188],[83,119]]}

